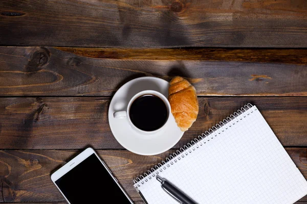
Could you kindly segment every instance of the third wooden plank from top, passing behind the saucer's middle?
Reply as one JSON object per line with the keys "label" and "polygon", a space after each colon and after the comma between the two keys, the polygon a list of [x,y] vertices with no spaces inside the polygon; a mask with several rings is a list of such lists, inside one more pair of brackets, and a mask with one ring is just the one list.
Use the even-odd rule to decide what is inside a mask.
{"label": "third wooden plank from top, passing behind the saucer's middle", "polygon": [[[123,148],[109,129],[109,97],[17,97],[0,99],[1,149]],[[307,146],[307,97],[200,97],[198,119],[175,147],[238,108],[258,107],[286,146]]]}

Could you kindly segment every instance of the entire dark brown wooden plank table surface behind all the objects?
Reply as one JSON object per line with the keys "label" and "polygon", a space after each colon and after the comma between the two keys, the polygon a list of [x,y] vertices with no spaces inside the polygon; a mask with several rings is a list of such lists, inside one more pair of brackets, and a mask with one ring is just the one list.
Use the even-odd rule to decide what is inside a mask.
{"label": "entire dark brown wooden plank table surface behind all the objects", "polygon": [[[307,178],[306,47],[305,0],[0,1],[0,202],[65,203],[50,173],[92,146],[143,203],[137,175],[247,103]],[[174,75],[195,86],[198,119],[163,154],[125,150],[112,95]]]}

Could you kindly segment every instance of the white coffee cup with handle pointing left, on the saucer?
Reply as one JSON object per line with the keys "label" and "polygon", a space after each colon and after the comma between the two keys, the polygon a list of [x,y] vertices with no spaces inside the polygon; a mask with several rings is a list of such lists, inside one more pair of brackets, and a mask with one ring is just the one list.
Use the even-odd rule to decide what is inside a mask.
{"label": "white coffee cup with handle pointing left, on the saucer", "polygon": [[[138,127],[136,127],[133,122],[131,121],[130,119],[130,116],[129,116],[129,110],[130,110],[130,107],[131,105],[133,104],[133,102],[135,101],[135,99],[137,99],[138,97],[142,96],[142,95],[155,95],[155,96],[158,96],[160,99],[163,100],[165,106],[166,106],[166,109],[167,109],[167,118],[166,118],[166,122],[164,123],[164,125],[162,127],[160,127],[159,129],[155,130],[155,131],[143,131],[141,129],[139,129]],[[153,91],[153,90],[145,90],[145,91],[141,91],[139,93],[137,93],[136,95],[134,95],[128,105],[127,105],[127,108],[126,108],[126,111],[118,111],[118,112],[115,112],[113,114],[114,118],[117,118],[117,119],[126,119],[128,120],[128,123],[129,125],[135,130],[137,131],[138,133],[142,134],[142,135],[153,135],[153,134],[156,134],[158,132],[161,132],[165,129],[165,127],[167,126],[167,124],[169,123],[169,115],[171,114],[171,109],[170,109],[170,104],[168,102],[168,99],[160,92],[158,91]],[[150,116],[148,116],[150,117]],[[119,127],[120,128],[120,127]]]}

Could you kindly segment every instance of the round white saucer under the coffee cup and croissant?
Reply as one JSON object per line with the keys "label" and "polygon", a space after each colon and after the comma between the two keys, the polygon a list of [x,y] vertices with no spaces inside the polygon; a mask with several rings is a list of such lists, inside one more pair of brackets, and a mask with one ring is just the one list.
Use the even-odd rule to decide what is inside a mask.
{"label": "round white saucer under the coffee cup and croissant", "polygon": [[159,91],[168,97],[168,82],[155,77],[141,77],[124,84],[112,98],[108,110],[108,121],[116,140],[126,149],[139,155],[157,155],[173,147],[182,137],[172,114],[169,125],[163,132],[155,135],[141,135],[134,131],[127,118],[114,118],[113,113],[125,111],[129,100],[138,92],[144,90]]}

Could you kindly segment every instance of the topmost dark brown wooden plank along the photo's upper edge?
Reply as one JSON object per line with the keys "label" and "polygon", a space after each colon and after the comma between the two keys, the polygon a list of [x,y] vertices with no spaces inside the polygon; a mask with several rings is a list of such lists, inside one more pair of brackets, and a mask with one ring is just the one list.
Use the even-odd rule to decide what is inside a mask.
{"label": "topmost dark brown wooden plank along the photo's upper edge", "polygon": [[7,0],[0,11],[0,45],[307,47],[301,0]]}

